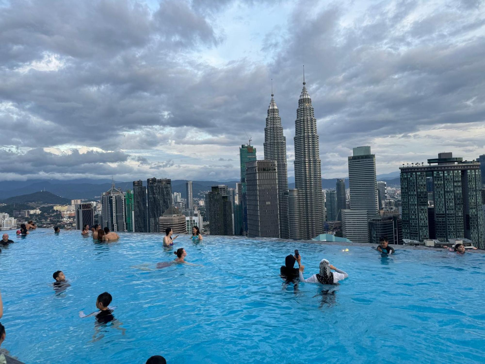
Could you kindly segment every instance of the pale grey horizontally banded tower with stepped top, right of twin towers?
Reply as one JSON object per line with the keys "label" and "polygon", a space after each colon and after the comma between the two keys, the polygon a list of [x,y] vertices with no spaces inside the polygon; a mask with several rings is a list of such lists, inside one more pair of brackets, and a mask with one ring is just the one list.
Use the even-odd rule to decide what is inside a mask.
{"label": "pale grey horizontally banded tower with stepped top, right of twin towers", "polygon": [[348,157],[350,209],[366,210],[368,217],[377,215],[375,154],[371,154],[368,146],[354,148],[353,154]]}

